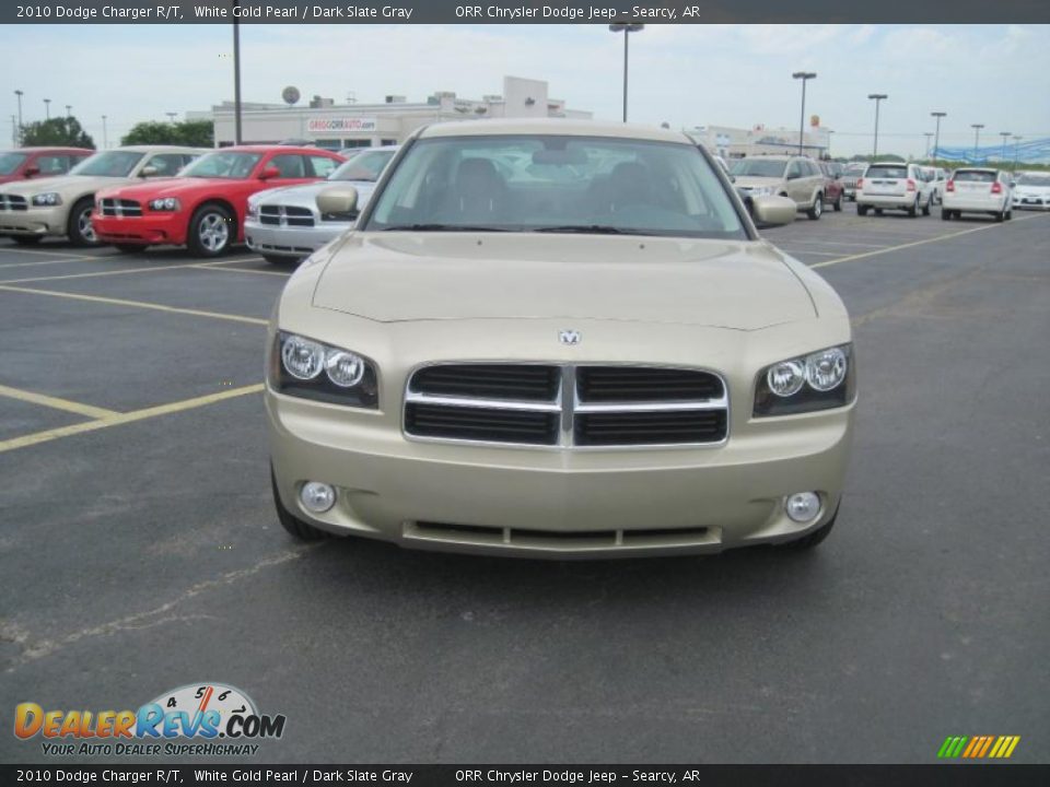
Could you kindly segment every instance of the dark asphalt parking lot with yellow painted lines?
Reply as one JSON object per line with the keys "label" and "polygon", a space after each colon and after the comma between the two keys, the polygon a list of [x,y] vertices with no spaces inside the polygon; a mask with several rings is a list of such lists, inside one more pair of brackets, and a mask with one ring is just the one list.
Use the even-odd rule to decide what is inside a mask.
{"label": "dark asphalt parking lot with yellow painted lines", "polygon": [[0,239],[0,707],[222,681],[287,715],[265,762],[1045,762],[1050,215],[765,235],[855,324],[836,532],[594,563],[290,541],[259,393],[289,271]]}

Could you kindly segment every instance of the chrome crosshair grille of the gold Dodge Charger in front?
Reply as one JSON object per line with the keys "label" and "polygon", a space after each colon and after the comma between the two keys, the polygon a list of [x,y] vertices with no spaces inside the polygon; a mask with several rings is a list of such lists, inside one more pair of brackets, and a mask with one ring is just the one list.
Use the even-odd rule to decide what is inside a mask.
{"label": "chrome crosshair grille of the gold Dodge Charger in front", "polygon": [[417,369],[405,433],[422,439],[602,448],[719,445],[721,376],[663,366],[435,364]]}

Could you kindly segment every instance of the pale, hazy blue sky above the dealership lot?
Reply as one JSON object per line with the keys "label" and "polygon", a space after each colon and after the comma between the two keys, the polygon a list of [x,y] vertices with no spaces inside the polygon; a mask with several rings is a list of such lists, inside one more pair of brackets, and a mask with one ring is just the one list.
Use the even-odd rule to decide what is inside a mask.
{"label": "pale, hazy blue sky above the dealership lot", "polygon": [[[233,97],[232,28],[217,25],[3,25],[0,144],[11,139],[15,90],[23,121],[66,105],[110,146],[141,120],[207,109]],[[618,120],[622,35],[605,25],[256,25],[241,26],[244,101],[304,97],[359,103],[387,94],[424,101],[499,94],[504,74],[542,79],[570,108]],[[981,144],[1002,131],[1050,137],[1050,25],[646,25],[631,36],[630,119],[672,128],[796,128],[794,71],[815,71],[806,116],[835,131],[833,155],[870,152],[874,102],[879,152],[922,155],[946,111],[942,145]]]}

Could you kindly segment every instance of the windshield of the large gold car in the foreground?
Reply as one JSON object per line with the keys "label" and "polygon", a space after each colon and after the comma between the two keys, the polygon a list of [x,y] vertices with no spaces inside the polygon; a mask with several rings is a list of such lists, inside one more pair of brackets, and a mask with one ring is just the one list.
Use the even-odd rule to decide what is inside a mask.
{"label": "windshield of the large gold car in the foreground", "polygon": [[551,232],[746,238],[690,144],[553,134],[420,140],[365,231]]}

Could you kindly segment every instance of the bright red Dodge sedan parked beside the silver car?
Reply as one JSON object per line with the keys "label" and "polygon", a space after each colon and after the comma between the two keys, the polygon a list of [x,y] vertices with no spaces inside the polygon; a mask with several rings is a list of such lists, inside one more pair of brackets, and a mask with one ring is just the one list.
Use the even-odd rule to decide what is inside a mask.
{"label": "bright red Dodge sedan parked beside the silver car", "polygon": [[121,251],[164,244],[214,257],[243,240],[248,197],[318,180],[343,161],[319,148],[222,148],[177,177],[100,191],[91,223],[101,243]]}

